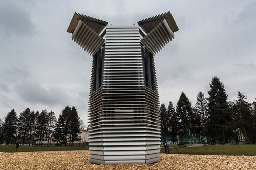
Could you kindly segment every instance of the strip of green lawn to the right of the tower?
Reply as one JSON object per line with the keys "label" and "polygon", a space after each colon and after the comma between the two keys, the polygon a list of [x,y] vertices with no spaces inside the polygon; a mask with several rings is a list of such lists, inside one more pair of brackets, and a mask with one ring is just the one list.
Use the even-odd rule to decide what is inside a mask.
{"label": "strip of green lawn to the right of the tower", "polygon": [[[169,145],[172,147],[172,145]],[[165,149],[161,147],[161,153]],[[172,154],[193,154],[193,155],[256,155],[256,144],[230,144],[230,145],[206,145],[205,147],[176,147],[170,148]]]}

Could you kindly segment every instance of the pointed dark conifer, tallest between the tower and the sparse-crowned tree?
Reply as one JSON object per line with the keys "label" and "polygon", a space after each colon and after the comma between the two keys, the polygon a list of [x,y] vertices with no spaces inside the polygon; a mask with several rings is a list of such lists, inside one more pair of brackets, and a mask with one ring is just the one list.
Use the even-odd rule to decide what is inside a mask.
{"label": "pointed dark conifer, tallest between the tower and the sparse-crowned tree", "polygon": [[[178,134],[185,134],[189,128],[192,128],[193,108],[192,104],[184,92],[181,93],[177,102],[176,112],[178,117]],[[190,129],[192,131],[192,129]]]}

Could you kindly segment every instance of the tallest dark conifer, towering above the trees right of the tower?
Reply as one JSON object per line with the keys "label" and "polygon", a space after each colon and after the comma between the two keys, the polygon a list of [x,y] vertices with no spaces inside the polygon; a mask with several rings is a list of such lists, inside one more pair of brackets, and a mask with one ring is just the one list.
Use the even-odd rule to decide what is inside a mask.
{"label": "tallest dark conifer, towering above the trees right of the tower", "polygon": [[227,103],[228,95],[218,77],[212,78],[208,94],[209,125],[207,132],[211,137],[227,143],[228,137],[232,136],[232,119]]}

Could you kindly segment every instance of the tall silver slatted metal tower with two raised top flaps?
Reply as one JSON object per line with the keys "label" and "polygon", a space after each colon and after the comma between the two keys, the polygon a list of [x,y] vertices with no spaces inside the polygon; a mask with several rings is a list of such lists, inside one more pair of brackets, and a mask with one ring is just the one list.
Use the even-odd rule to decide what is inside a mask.
{"label": "tall silver slatted metal tower with two raised top flaps", "polygon": [[[72,19],[76,22],[71,21],[68,29],[72,39],[93,56],[88,115],[91,163],[159,161],[161,121],[153,55],[175,31],[167,14],[137,26],[106,26],[97,19],[91,19],[90,25],[86,17]],[[104,24],[105,31],[92,29]],[[172,32],[158,34],[161,29]]]}

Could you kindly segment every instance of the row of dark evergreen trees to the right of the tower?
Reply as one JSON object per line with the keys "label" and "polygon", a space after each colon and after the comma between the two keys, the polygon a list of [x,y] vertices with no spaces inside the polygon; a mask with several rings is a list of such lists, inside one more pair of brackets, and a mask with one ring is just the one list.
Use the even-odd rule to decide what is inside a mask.
{"label": "row of dark evergreen trees to the right of the tower", "polygon": [[199,91],[193,107],[184,92],[176,107],[160,106],[161,131],[168,137],[186,135],[188,131],[205,136],[212,142],[227,143],[237,137],[246,143],[256,143],[256,101],[249,103],[238,91],[237,100],[228,101],[224,84],[214,76],[208,98]]}

